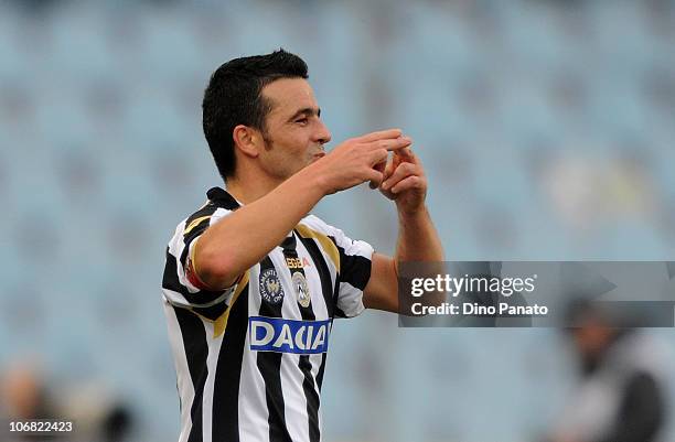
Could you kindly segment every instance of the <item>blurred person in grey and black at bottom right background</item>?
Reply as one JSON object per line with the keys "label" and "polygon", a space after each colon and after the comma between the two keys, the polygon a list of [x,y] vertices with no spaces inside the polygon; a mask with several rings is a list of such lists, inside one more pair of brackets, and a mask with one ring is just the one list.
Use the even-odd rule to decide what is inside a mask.
{"label": "blurred person in grey and black at bottom right background", "polygon": [[569,320],[581,378],[547,441],[662,441],[667,416],[663,348],[597,302],[574,301]]}

